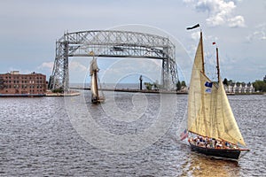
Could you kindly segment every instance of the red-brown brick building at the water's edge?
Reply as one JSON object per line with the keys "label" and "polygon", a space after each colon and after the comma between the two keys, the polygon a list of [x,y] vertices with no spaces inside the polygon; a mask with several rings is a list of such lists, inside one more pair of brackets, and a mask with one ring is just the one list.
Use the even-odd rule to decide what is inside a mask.
{"label": "red-brown brick building at the water's edge", "polygon": [[20,74],[19,71],[0,74],[0,94],[44,95],[46,76],[42,73]]}

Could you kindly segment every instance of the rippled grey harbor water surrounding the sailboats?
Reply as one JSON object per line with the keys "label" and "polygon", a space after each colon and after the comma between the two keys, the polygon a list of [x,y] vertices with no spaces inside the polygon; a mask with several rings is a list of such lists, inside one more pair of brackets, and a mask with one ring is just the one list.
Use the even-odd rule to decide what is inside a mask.
{"label": "rippled grey harbor water surrounding the sailboats", "polygon": [[[90,104],[89,92],[84,95],[91,119],[110,135],[119,137],[145,134],[159,120],[163,103],[163,98],[156,94],[106,92],[105,105],[114,106],[108,110]],[[108,98],[112,96],[114,101]],[[176,104],[167,104],[169,108],[176,105],[176,113],[174,118],[168,118],[173,121],[166,133],[148,146],[144,143],[141,150],[132,147],[123,153],[115,151],[122,148],[123,140],[101,142],[115,146],[104,150],[99,135],[90,135],[99,142],[91,143],[74,126],[75,119],[83,116],[80,104],[83,94],[65,98],[0,98],[0,176],[262,176],[266,173],[266,96],[229,96],[241,133],[251,149],[238,162],[207,158],[192,152],[186,142],[175,140],[187,101],[187,96],[175,96],[168,98],[176,99]],[[66,111],[66,107],[74,114]],[[133,117],[134,112],[140,114],[127,121],[106,115],[116,108],[124,112],[125,118],[125,112],[133,112]],[[87,117],[80,120],[84,121],[80,122],[82,128],[86,128]]]}

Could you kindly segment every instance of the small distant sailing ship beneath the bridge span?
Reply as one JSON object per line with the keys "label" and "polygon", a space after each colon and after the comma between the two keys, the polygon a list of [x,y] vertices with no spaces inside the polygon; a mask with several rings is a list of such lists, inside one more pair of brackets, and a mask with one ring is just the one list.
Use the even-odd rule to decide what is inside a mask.
{"label": "small distant sailing ship beneath the bridge span", "polygon": [[97,58],[92,59],[90,62],[90,76],[91,76],[91,84],[90,84],[90,91],[91,91],[91,103],[92,104],[99,104],[105,101],[104,96],[99,96],[98,93],[98,65],[97,65]]}

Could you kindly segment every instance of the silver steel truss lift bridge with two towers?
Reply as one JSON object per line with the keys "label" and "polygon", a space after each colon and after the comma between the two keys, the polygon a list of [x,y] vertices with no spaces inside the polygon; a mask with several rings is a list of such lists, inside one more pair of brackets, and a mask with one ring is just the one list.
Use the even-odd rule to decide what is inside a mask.
{"label": "silver steel truss lift bridge with two towers", "polygon": [[49,89],[69,89],[69,57],[154,58],[162,60],[161,84],[176,84],[176,47],[168,37],[131,31],[66,33],[56,42]]}

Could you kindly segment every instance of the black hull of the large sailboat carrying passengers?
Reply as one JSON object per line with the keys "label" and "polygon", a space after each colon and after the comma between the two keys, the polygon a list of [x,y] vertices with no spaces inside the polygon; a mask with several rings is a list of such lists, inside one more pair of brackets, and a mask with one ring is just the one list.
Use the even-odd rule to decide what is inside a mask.
{"label": "black hull of the large sailboat carrying passengers", "polygon": [[215,156],[219,158],[231,158],[238,159],[240,155],[240,150],[224,150],[224,149],[211,149],[204,148],[200,146],[196,146],[190,142],[193,151],[197,151],[201,154],[205,154],[207,156]]}

